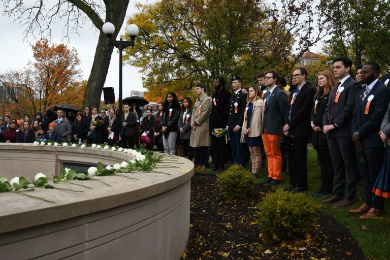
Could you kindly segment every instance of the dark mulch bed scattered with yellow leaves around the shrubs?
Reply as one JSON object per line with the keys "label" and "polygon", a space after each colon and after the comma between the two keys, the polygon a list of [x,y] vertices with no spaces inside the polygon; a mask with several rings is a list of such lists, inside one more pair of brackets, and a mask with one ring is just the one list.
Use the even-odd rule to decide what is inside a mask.
{"label": "dark mulch bed scattered with yellow leaves around the shrubs", "polygon": [[324,213],[318,214],[310,240],[264,246],[253,215],[269,191],[257,185],[253,196],[229,203],[219,195],[215,176],[194,175],[182,259],[366,259],[349,232]]}

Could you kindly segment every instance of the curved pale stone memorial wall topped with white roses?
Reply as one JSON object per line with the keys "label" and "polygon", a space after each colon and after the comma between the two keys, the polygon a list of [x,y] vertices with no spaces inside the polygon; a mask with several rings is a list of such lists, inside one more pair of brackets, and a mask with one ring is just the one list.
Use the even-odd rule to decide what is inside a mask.
{"label": "curved pale stone memorial wall topped with white roses", "polygon": [[[28,162],[24,160],[27,158]],[[41,162],[31,166],[32,161]],[[131,159],[123,152],[27,144],[0,144],[0,175],[34,178],[59,173],[63,161],[103,164]],[[84,192],[24,191],[56,203],[0,193],[0,252],[5,259],[179,259],[189,235],[191,161],[178,158],[170,173],[96,177],[54,184]],[[168,165],[160,163],[159,165]],[[5,169],[13,169],[6,174]],[[30,175],[28,175],[30,174]]]}

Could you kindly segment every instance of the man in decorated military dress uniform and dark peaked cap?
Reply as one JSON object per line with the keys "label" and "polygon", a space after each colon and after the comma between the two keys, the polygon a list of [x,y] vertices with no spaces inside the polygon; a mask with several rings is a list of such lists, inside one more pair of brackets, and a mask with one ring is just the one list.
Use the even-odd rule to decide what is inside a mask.
{"label": "man in decorated military dress uniform and dark peaked cap", "polygon": [[226,130],[229,133],[230,146],[232,147],[233,164],[246,167],[246,144],[240,144],[241,126],[244,122],[244,110],[246,107],[246,94],[242,92],[242,78],[232,78],[234,94],[229,100],[229,119]]}

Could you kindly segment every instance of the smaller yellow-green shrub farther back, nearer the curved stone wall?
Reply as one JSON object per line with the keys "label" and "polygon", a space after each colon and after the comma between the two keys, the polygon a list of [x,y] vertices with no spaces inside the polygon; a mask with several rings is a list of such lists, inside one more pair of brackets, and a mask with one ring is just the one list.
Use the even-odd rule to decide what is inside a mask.
{"label": "smaller yellow-green shrub farther back, nearer the curved stone wall", "polygon": [[240,165],[233,165],[217,176],[221,194],[228,199],[245,198],[253,192],[254,181],[249,171]]}

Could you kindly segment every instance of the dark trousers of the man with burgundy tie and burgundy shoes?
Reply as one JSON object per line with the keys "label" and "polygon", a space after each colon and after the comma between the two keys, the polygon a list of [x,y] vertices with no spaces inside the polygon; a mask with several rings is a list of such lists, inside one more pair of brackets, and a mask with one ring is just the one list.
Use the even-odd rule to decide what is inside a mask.
{"label": "dark trousers of the man with burgundy tie and burgundy shoes", "polygon": [[[350,137],[331,137],[328,139],[329,152],[334,170],[333,194],[346,199],[356,196],[356,187],[360,180],[358,160],[355,146]],[[347,190],[345,191],[345,172],[347,174]]]}

